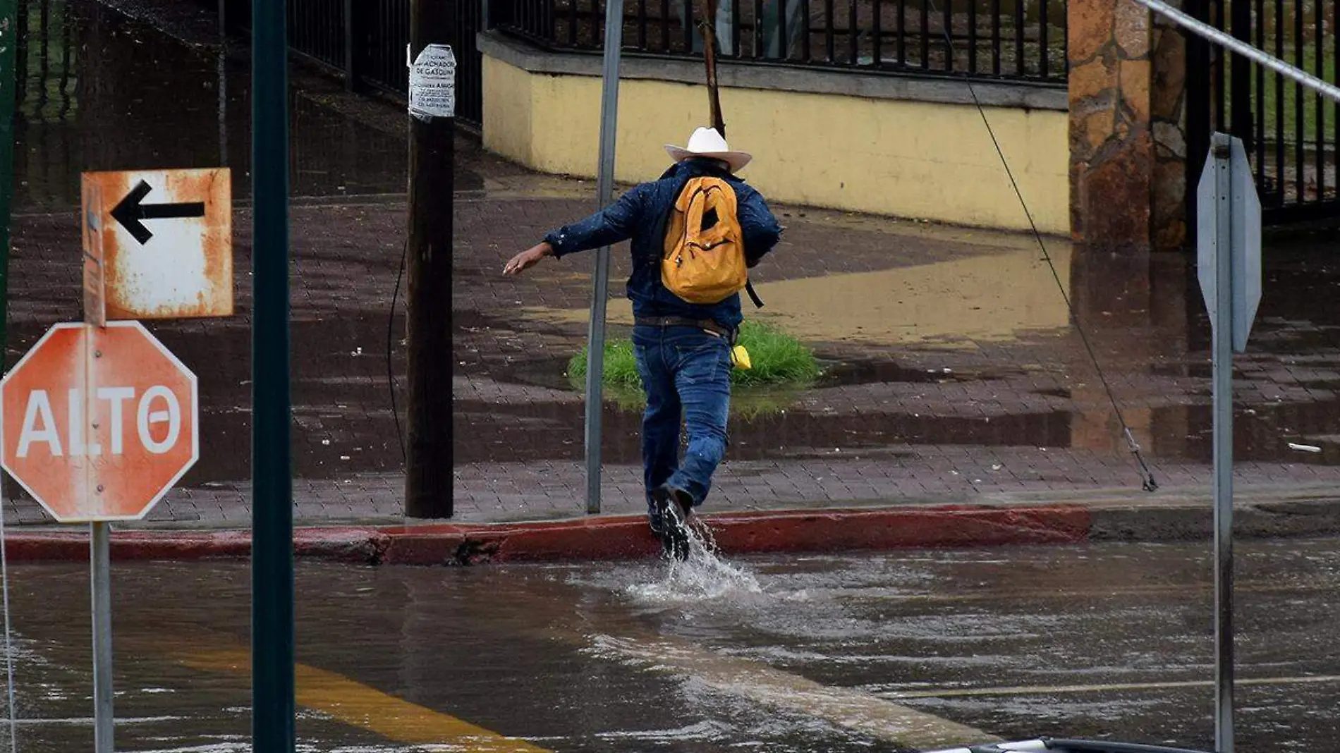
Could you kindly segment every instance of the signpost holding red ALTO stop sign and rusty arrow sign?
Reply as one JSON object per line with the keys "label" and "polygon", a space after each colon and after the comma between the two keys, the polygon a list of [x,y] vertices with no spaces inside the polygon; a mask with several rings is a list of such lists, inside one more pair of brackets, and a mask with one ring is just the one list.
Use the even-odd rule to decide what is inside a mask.
{"label": "signpost holding red ALTO stop sign and rusty arrow sign", "polygon": [[226,169],[84,173],[83,322],[51,327],[0,379],[0,468],[56,523],[88,524],[96,753],[115,732],[110,524],[143,519],[200,460],[196,375],[137,319],[232,314],[230,198]]}

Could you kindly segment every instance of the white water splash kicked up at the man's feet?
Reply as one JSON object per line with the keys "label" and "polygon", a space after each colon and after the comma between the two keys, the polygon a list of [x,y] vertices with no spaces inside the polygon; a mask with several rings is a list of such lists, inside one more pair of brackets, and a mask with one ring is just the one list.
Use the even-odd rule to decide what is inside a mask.
{"label": "white water splash kicked up at the man's feet", "polygon": [[721,559],[710,528],[701,521],[687,528],[689,559],[679,561],[666,556],[665,577],[630,586],[630,596],[639,602],[683,603],[764,594],[753,572]]}

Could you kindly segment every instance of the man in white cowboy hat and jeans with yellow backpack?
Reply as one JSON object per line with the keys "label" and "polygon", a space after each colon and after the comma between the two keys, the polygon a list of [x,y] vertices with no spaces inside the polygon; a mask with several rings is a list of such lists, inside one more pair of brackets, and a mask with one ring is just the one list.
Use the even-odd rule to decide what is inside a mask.
{"label": "man in white cowboy hat and jeans with yellow backpack", "polygon": [[[744,319],[738,291],[748,284],[745,268],[772,251],[781,228],[764,197],[736,177],[752,157],[732,151],[714,129],[698,129],[686,147],[666,151],[675,163],[661,178],[551,232],[508,261],[504,273],[631,238],[627,293],[647,397],[647,517],[666,552],[686,559],[689,515],[706,498],[726,452],[732,346]],[[689,434],[683,462],[681,421]]]}

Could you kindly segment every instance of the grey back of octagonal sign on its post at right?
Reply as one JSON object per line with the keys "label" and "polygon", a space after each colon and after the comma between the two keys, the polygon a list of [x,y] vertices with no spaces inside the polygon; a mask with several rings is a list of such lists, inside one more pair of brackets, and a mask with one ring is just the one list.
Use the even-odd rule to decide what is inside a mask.
{"label": "grey back of octagonal sign on its post at right", "polygon": [[1217,133],[1197,188],[1197,276],[1214,360],[1214,746],[1233,753],[1233,352],[1261,301],[1261,201],[1242,139]]}

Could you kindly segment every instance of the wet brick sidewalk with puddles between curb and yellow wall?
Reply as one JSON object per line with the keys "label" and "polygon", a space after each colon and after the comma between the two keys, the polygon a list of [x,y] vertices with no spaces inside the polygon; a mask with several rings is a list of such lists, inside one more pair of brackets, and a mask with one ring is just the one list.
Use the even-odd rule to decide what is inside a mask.
{"label": "wet brick sidewalk with puddles between curb and yellow wall", "polygon": [[[7,355],[12,363],[52,323],[80,316],[82,170],[232,166],[237,316],[151,326],[200,376],[204,406],[201,461],[151,523],[245,525],[247,48],[220,44],[209,13],[161,0],[117,5],[133,17],[94,0],[25,5],[29,29],[47,31],[24,55]],[[295,513],[306,524],[402,520],[405,115],[303,66],[292,78]],[[457,154],[457,517],[582,515],[583,397],[564,368],[586,338],[594,257],[519,280],[498,271],[590,212],[592,186],[528,174],[468,135]],[[1110,257],[1057,238],[1044,257],[1022,236],[776,209],[785,240],[756,271],[768,305],[748,314],[801,338],[825,372],[807,390],[736,393],[728,462],[706,509],[1097,489],[1140,497],[1104,383],[1162,490],[1207,488],[1209,324],[1189,257]],[[1237,360],[1245,494],[1340,482],[1333,240],[1268,240],[1265,296]],[[620,248],[614,335],[628,326],[626,273]],[[639,421],[635,401],[604,406],[607,512],[642,509]],[[19,494],[11,523],[47,520],[7,490]]]}

